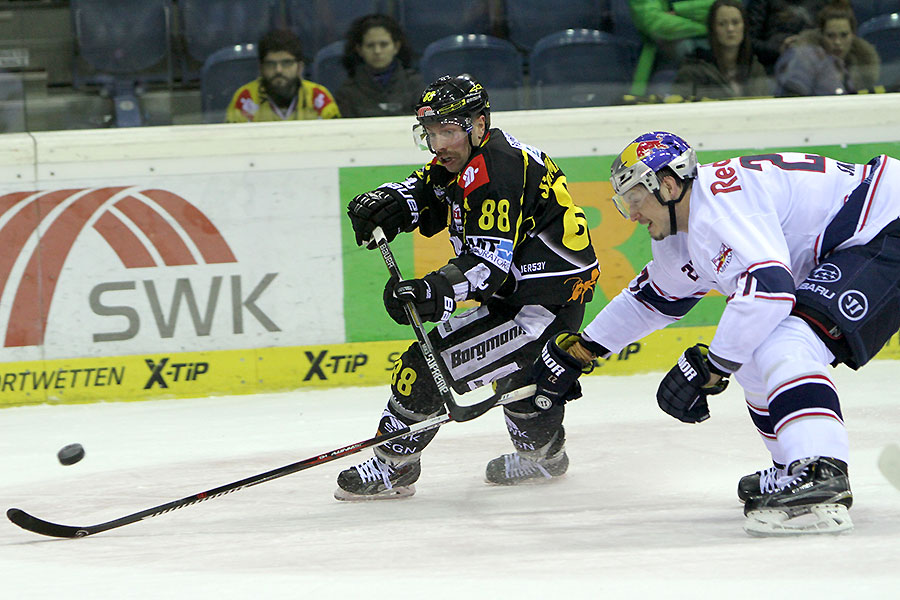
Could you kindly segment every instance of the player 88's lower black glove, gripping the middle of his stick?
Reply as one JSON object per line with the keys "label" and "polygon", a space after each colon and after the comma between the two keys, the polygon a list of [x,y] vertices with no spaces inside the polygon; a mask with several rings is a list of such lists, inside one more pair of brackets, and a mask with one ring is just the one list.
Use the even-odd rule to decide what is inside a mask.
{"label": "player 88's lower black glove, gripping the middle of his stick", "polygon": [[400,325],[409,325],[409,319],[403,305],[412,302],[425,321],[446,321],[456,310],[453,286],[440,273],[429,273],[423,279],[407,279],[397,281],[396,277],[388,279],[384,286],[384,307],[388,314]]}

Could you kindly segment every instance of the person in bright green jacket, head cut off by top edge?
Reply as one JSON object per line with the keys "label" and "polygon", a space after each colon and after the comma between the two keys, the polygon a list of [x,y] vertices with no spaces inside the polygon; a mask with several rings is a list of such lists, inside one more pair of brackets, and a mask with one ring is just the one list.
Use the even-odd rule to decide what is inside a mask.
{"label": "person in bright green jacket, head cut off by top edge", "polygon": [[685,54],[684,40],[706,35],[706,15],[713,0],[628,0],[644,47],[631,93],[643,96],[654,70],[675,70]]}

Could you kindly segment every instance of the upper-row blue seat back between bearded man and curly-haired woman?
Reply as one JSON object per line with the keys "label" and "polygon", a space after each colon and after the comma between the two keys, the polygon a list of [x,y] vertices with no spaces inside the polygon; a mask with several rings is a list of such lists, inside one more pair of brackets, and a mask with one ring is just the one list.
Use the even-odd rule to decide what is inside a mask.
{"label": "upper-row blue seat back between bearded man and curly-haired woman", "polygon": [[313,60],[319,50],[344,39],[353,21],[386,13],[386,5],[387,0],[285,0],[285,12],[288,29],[300,38],[307,59]]}

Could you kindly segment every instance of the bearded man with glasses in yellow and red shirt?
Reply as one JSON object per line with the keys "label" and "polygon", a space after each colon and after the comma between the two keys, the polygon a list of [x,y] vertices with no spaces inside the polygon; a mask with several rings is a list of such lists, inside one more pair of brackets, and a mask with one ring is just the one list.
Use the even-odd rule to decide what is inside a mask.
{"label": "bearded man with glasses in yellow and red shirt", "polygon": [[306,81],[303,48],[290,31],[270,31],[259,41],[259,79],[234,93],[225,120],[229,123],[297,121],[340,117],[325,86]]}

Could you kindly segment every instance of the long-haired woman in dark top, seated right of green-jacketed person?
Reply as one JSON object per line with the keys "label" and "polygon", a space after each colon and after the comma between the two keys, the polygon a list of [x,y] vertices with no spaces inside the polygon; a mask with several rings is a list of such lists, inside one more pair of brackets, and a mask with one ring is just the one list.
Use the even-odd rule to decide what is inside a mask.
{"label": "long-haired woman in dark top, seated right of green-jacketed person", "polygon": [[672,93],[685,99],[771,96],[766,70],[756,59],[741,0],[716,0],[709,9],[710,49],[698,48],[678,69]]}

